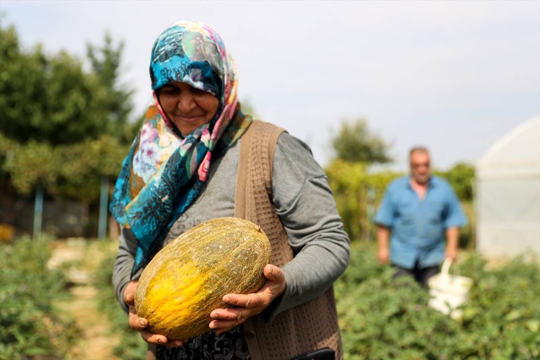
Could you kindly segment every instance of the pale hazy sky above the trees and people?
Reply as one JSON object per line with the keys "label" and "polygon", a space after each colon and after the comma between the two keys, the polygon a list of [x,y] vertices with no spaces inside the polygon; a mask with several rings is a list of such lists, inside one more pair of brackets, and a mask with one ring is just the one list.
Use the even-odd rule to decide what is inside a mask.
{"label": "pale hazy sky above the trees and people", "polygon": [[206,22],[237,61],[240,100],[321,165],[342,119],[367,119],[392,144],[388,168],[406,171],[412,146],[439,169],[474,163],[540,113],[540,1],[2,0],[0,10],[28,49],[83,58],[105,32],[123,40],[134,117],[151,101],[156,37],[180,19]]}

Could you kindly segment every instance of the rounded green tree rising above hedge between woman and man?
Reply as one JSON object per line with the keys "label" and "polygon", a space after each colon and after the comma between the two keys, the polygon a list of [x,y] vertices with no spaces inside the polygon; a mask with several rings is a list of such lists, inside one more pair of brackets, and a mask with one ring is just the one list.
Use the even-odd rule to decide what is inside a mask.
{"label": "rounded green tree rising above hedge between woman and man", "polygon": [[339,159],[350,162],[390,162],[390,145],[373,134],[366,119],[343,120],[338,133],[332,136],[332,146]]}

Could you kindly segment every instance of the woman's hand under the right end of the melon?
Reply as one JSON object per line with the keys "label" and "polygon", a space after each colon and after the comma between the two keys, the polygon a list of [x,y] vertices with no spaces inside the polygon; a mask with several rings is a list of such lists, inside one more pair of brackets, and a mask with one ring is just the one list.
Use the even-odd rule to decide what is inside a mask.
{"label": "woman's hand under the right end of the melon", "polygon": [[216,334],[231,330],[247,320],[247,318],[260,314],[268,305],[285,291],[285,275],[283,271],[272,264],[267,264],[262,270],[266,282],[257,293],[240,295],[227,294],[223,302],[234,305],[234,308],[215,309],[210,313],[214,320],[210,322],[210,328]]}

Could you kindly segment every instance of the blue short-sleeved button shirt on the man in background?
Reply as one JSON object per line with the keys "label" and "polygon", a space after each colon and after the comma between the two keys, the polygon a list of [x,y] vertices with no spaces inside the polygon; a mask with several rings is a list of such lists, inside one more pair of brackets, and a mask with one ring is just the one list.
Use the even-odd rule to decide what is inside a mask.
{"label": "blue short-sleeved button shirt on the man in background", "polygon": [[410,176],[394,180],[386,189],[375,216],[392,231],[390,262],[412,269],[435,266],[444,260],[446,229],[467,224],[460,201],[447,181],[431,176],[426,197],[420,200]]}

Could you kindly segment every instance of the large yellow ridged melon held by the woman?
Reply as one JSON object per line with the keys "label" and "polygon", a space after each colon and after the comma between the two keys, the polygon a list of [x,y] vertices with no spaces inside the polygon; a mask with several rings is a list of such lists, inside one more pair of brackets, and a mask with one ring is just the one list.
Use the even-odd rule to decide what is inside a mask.
{"label": "large yellow ridged melon held by the woman", "polygon": [[249,294],[265,282],[271,261],[268,238],[251,221],[218,218],[187,230],[160,250],[141,274],[137,315],[168,339],[209,331],[210,313],[230,307],[226,294]]}

